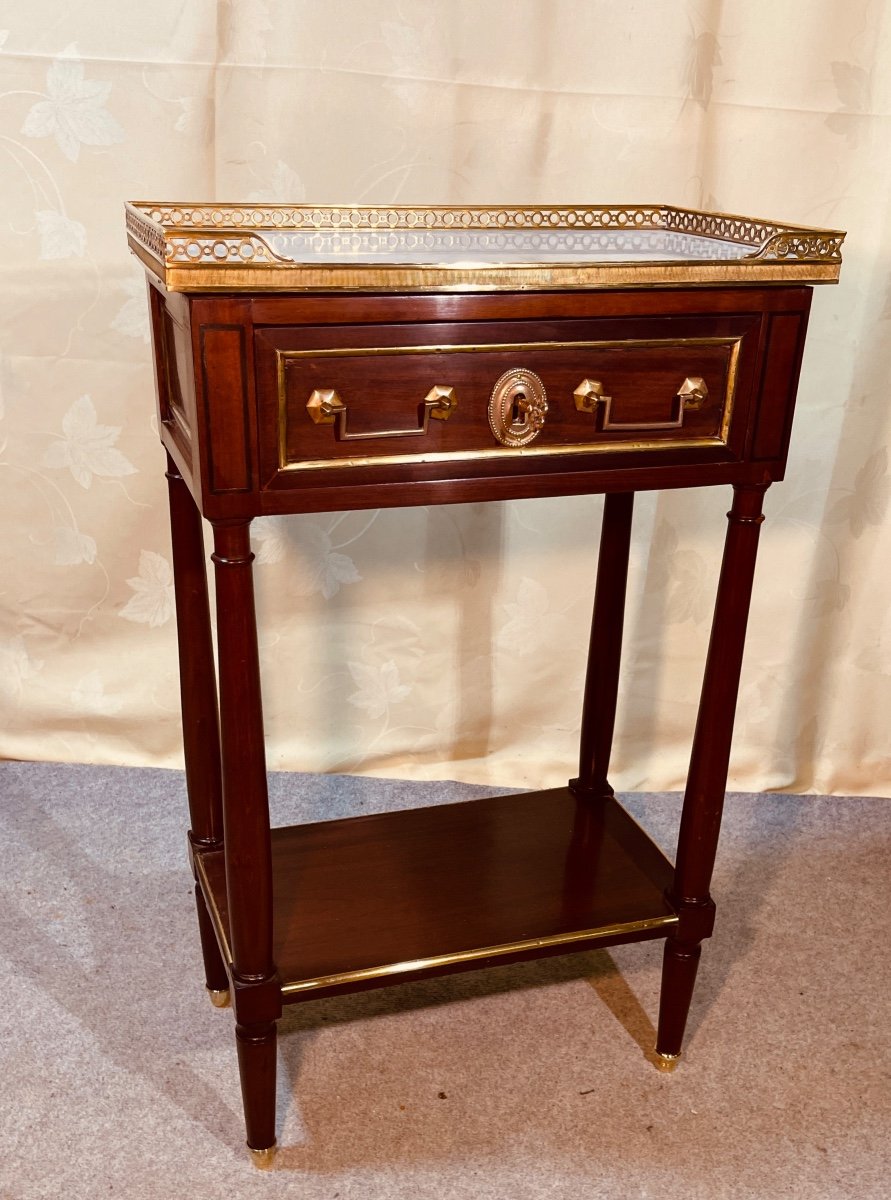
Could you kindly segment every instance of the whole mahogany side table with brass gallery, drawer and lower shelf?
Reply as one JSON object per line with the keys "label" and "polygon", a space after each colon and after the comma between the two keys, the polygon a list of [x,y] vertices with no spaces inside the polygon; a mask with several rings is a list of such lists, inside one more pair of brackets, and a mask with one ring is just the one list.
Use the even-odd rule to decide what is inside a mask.
{"label": "whole mahogany side table with brass gallery, drawer and lower shelf", "polygon": [[[662,940],[672,1067],[714,920],[761,500],[811,286],[838,278],[844,235],[670,205],[134,203],[126,220],[168,461],[198,928],[211,998],[235,1010],[255,1162],[275,1146],[275,1022],[301,1000]],[[608,767],[634,492],[706,485],[732,503],[672,866]],[[578,775],[270,829],[251,518],[592,492]]]}

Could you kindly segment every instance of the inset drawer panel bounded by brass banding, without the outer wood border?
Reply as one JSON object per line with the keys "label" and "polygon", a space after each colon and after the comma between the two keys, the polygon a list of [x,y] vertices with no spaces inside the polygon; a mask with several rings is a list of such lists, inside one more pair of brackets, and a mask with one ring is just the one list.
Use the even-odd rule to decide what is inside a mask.
{"label": "inset drawer panel bounded by brass banding, without the outer wood border", "polygon": [[[274,344],[277,468],[337,470],[725,446],[743,336]],[[512,400],[501,416],[492,416],[496,397],[501,404],[520,377],[537,383],[514,389],[516,403]],[[448,385],[433,391],[448,386],[460,394],[456,412],[454,403],[448,410],[429,403],[433,391],[419,412],[417,397],[436,378]],[[603,382],[600,394],[596,397],[592,388],[580,398],[579,390],[597,380]],[[503,395],[500,386],[507,389]],[[537,388],[540,401],[533,395]],[[433,427],[429,416],[449,416],[448,425],[441,419]],[[336,421],[334,437],[323,421]],[[417,449],[388,445],[390,438],[420,434],[426,436]],[[361,452],[343,445],[359,440]]]}

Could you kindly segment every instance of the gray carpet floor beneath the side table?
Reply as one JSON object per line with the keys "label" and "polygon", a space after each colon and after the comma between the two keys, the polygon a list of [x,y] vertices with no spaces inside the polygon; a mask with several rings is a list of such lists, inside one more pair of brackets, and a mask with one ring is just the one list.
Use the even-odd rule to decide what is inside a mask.
{"label": "gray carpet floor beneath the side table", "polygon": [[[279,823],[471,798],[274,775]],[[680,798],[627,797],[669,851]],[[286,1009],[276,1166],[203,989],[177,772],[0,764],[0,1198],[891,1195],[891,802],[731,796],[681,1067],[660,943]]]}

